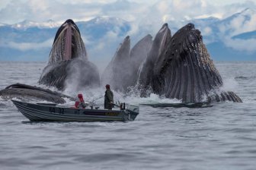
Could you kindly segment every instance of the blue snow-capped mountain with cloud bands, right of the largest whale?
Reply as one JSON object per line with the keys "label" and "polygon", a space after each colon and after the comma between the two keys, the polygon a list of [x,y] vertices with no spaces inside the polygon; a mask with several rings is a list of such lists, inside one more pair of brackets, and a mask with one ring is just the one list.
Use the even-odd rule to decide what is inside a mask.
{"label": "blue snow-capped mountain with cloud bands, right of the largest whale", "polygon": [[213,58],[217,60],[256,59],[256,11],[251,8],[232,14],[223,20],[194,20]]}

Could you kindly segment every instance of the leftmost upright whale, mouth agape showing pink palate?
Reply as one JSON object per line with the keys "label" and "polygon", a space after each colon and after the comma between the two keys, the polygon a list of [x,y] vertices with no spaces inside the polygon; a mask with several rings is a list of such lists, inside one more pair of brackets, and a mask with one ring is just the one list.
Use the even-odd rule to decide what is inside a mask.
{"label": "leftmost upright whale, mouth agape showing pink palate", "polygon": [[59,27],[39,83],[59,90],[65,90],[70,83],[72,90],[100,85],[98,68],[88,61],[85,44],[73,20],[66,20]]}

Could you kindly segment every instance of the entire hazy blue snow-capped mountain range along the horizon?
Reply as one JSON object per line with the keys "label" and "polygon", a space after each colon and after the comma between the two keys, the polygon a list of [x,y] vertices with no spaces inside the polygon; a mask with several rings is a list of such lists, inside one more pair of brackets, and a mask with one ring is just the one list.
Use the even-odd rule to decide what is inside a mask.
{"label": "entire hazy blue snow-capped mountain range along the horizon", "polygon": [[[68,19],[68,18],[67,18]],[[256,60],[256,11],[251,8],[230,17],[168,20],[173,35],[182,26],[193,23],[201,31],[203,42],[214,61]],[[62,23],[24,20],[18,24],[0,24],[0,61],[48,61],[56,31]],[[128,22],[117,17],[96,17],[76,22],[91,61],[107,62],[120,42],[130,35],[132,46],[158,30],[149,25]],[[162,23],[164,24],[164,23]],[[134,29],[136,25],[137,29]],[[162,25],[158,25],[160,29]]]}

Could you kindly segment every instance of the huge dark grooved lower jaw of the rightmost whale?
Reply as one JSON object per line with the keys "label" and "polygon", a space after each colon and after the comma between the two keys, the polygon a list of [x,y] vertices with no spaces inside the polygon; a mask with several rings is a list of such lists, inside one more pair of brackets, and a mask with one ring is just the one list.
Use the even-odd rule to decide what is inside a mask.
{"label": "huge dark grooved lower jaw of the rightmost whale", "polygon": [[233,92],[219,92],[222,77],[210,59],[200,31],[187,24],[171,37],[152,68],[154,93],[182,102],[242,102]]}

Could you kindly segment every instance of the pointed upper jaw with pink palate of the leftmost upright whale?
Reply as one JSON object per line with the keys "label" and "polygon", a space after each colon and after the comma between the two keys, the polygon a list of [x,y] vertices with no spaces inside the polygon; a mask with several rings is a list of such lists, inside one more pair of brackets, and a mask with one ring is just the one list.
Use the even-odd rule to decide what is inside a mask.
{"label": "pointed upper jaw with pink palate of the leftmost upright whale", "polygon": [[56,33],[49,64],[74,58],[86,58],[85,44],[73,20],[66,20]]}

